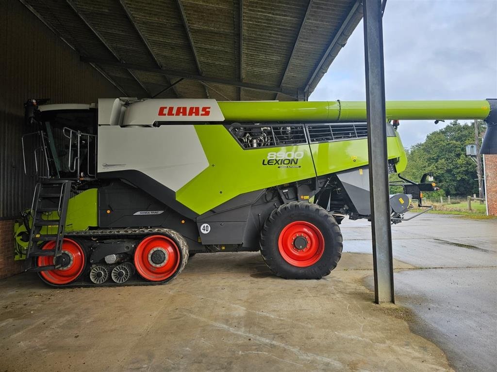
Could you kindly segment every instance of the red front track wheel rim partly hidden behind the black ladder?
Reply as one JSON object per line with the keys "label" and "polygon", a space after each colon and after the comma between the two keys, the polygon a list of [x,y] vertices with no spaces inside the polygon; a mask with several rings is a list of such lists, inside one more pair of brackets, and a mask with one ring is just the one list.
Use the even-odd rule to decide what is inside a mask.
{"label": "red front track wheel rim partly hidden behind the black ladder", "polygon": [[[43,246],[43,249],[55,248],[55,240],[52,240]],[[84,268],[84,252],[83,248],[74,240],[65,238],[62,242],[62,254],[67,254],[71,260],[68,266],[55,269],[40,271],[40,275],[47,282],[55,285],[71,283],[77,279]],[[37,260],[38,266],[47,266],[54,264],[53,256],[41,256]]]}

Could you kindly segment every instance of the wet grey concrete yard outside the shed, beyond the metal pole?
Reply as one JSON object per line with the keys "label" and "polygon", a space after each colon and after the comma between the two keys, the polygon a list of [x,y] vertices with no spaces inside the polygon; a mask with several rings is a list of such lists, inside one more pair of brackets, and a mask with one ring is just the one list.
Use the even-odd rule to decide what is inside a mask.
{"label": "wet grey concrete yard outside the shed, beyond the metal pole", "polygon": [[[371,229],[347,221],[344,250],[371,252]],[[394,257],[416,269],[394,275],[411,328],[440,346],[457,371],[497,371],[497,220],[425,214],[392,227]],[[366,280],[372,289],[372,278]]]}

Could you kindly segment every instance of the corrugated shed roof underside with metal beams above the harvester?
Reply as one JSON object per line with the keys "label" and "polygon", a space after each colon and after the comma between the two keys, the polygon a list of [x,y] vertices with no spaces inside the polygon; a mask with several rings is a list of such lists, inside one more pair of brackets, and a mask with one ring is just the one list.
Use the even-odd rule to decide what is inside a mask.
{"label": "corrugated shed roof underside with metal beams above the harvester", "polygon": [[24,1],[136,97],[183,77],[160,97],[302,99],[362,17],[357,0]]}

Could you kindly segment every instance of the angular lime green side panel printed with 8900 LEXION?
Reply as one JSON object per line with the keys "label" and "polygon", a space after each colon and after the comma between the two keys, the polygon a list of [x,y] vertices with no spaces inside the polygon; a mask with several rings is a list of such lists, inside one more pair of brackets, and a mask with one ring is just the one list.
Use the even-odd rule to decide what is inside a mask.
{"label": "angular lime green side panel printed with 8900 LEXION", "polygon": [[[245,192],[316,177],[309,145],[244,150],[223,125],[195,125],[209,167],[176,191],[176,200],[202,214]],[[303,152],[300,168],[262,165],[269,152]]]}

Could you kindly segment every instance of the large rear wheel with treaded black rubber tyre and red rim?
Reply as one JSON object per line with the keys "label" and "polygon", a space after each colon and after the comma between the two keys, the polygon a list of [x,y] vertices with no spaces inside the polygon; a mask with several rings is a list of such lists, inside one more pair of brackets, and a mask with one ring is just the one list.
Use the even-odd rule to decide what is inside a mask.
{"label": "large rear wheel with treaded black rubber tyre and red rim", "polygon": [[[280,247],[279,244],[280,235],[282,241],[287,236],[286,234],[294,236],[292,235],[293,230],[289,233],[288,229],[296,229],[298,232],[299,228],[303,226],[301,223],[306,224],[306,228],[311,226],[312,232],[321,243],[316,246],[318,247],[316,248],[317,252],[312,256],[312,259],[294,261],[297,265],[305,264],[307,266],[292,264],[289,262],[292,258],[285,259],[283,254],[288,257],[285,251],[290,250],[290,254],[293,254],[292,249],[295,249],[295,252],[300,254],[308,247],[313,249],[311,243],[308,244],[306,240],[306,248],[300,249],[295,247],[297,239],[293,240],[293,247],[288,247],[288,244],[284,243]],[[283,253],[280,248],[283,249]],[[342,248],[340,228],[333,216],[319,205],[308,202],[292,201],[279,206],[271,212],[261,230],[260,252],[262,257],[274,274],[285,279],[321,279],[323,276],[329,275],[340,260]],[[319,254],[320,251],[321,254]],[[316,261],[314,262],[314,260]]]}

